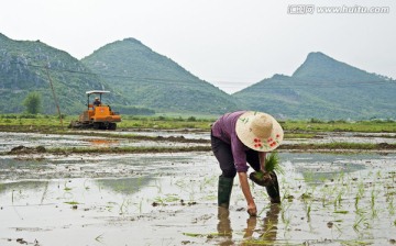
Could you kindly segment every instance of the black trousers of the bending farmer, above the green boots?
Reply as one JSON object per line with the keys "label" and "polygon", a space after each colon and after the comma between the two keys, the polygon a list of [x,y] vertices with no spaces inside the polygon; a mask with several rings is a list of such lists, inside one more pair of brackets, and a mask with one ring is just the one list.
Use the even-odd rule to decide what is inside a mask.
{"label": "black trousers of the bending farmer, above the green boots", "polygon": [[[213,135],[210,136],[210,141],[211,149],[220,164],[220,169],[222,171],[221,176],[234,178],[237,176],[237,169],[233,161],[231,145]],[[257,152],[253,149],[246,150],[246,161],[255,171],[260,171],[260,158]]]}

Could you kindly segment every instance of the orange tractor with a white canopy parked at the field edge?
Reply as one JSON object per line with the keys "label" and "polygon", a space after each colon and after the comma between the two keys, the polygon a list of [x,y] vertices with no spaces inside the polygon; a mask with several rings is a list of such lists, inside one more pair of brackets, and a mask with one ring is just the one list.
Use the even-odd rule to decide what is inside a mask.
{"label": "orange tractor with a white canopy parked at the field edge", "polygon": [[[100,130],[116,130],[117,123],[121,122],[121,115],[111,110],[110,105],[101,103],[103,93],[109,93],[106,90],[91,90],[87,91],[88,96],[87,105],[88,109],[84,111],[78,121],[72,121],[69,127],[73,128],[100,128]],[[90,103],[89,97],[91,94],[98,94],[94,103]]]}

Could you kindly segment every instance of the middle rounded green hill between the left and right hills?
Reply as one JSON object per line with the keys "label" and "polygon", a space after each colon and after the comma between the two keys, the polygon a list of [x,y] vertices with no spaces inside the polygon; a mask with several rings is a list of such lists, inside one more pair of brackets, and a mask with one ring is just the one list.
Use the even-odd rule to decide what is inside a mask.
{"label": "middle rounded green hill between the left and right hills", "polygon": [[108,44],[81,62],[136,107],[199,114],[238,108],[231,96],[134,38]]}

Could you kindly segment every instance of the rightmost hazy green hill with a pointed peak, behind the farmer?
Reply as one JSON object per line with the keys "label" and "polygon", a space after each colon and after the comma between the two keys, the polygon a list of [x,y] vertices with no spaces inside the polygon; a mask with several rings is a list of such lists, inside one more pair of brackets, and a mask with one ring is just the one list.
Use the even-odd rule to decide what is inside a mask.
{"label": "rightmost hazy green hill with a pointed peak, behind the farmer", "polygon": [[275,75],[233,94],[284,119],[395,119],[396,81],[310,53],[292,77]]}

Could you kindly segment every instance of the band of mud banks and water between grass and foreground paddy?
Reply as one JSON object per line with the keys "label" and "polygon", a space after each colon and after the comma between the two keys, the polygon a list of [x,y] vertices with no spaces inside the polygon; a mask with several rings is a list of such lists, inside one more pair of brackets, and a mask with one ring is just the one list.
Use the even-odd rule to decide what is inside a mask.
{"label": "band of mud banks and water between grass and foreground paddy", "polygon": [[[77,134],[77,135],[73,135]],[[147,135],[144,135],[147,134]],[[208,133],[158,132],[69,132],[68,134],[1,133],[0,154],[131,154],[210,152]],[[393,134],[318,133],[315,138],[285,139],[279,152],[396,153]]]}

